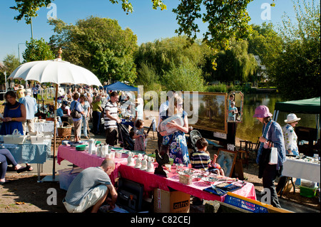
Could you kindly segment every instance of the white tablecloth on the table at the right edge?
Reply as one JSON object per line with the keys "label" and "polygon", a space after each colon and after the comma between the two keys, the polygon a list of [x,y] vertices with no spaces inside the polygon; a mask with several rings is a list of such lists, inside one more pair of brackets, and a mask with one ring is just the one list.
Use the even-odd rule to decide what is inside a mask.
{"label": "white tablecloth on the table at the right edge", "polygon": [[300,159],[287,159],[283,164],[282,175],[320,183],[320,164]]}

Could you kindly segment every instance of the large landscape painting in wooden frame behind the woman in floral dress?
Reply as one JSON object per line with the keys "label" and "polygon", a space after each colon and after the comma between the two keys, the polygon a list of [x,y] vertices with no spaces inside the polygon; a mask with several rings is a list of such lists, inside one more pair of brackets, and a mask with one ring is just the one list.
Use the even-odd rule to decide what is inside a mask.
{"label": "large landscape painting in wooden frame behind the woman in floral dress", "polygon": [[[197,102],[195,102],[194,92],[183,92],[184,110],[188,112],[188,125],[200,130],[227,134],[228,93],[196,94]],[[195,107],[195,103],[198,104],[197,107]],[[195,118],[197,121],[193,122]]]}

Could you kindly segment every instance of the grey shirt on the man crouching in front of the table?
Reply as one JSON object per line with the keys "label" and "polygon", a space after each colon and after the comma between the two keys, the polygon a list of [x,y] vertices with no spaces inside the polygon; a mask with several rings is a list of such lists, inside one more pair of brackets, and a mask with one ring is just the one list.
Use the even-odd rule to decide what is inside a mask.
{"label": "grey shirt on the man crouching in front of the table", "polygon": [[88,167],[81,171],[68,187],[65,200],[68,204],[79,206],[82,199],[96,186],[111,184],[111,179],[100,167]]}

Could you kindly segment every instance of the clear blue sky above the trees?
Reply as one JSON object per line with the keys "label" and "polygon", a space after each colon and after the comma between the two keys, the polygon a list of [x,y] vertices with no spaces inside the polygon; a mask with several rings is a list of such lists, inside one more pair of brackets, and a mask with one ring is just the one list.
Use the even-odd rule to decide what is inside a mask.
{"label": "clear blue sky above the trees", "polygon": [[[163,0],[167,10],[153,10],[151,0],[131,0],[133,4],[133,14],[128,14],[121,9],[119,4],[111,4],[108,0],[55,0],[56,13],[58,19],[66,23],[75,24],[79,19],[99,16],[116,19],[122,28],[131,28],[138,37],[138,45],[156,39],[177,36],[175,29],[178,25],[175,20],[175,14],[172,9],[178,6],[178,0]],[[295,0],[296,1],[296,0]],[[309,0],[310,1],[310,0]],[[248,12],[252,21],[250,23],[262,24],[263,22],[272,22],[277,25],[282,21],[282,15],[286,13],[294,18],[291,0],[275,0],[275,7],[271,7],[270,20],[263,20],[261,17],[265,9],[261,9],[262,4],[272,3],[272,0],[254,0],[248,6]],[[0,1],[0,61],[4,60],[7,54],[19,56],[22,61],[22,53],[25,49],[26,41],[31,38],[31,26],[24,20],[16,21],[14,16],[17,11],[9,9],[15,6],[14,0]],[[47,23],[47,14],[52,9],[41,8],[38,11],[39,16],[33,19],[34,38],[49,38],[54,34],[53,27]],[[201,33],[205,31],[205,25],[200,23]]]}

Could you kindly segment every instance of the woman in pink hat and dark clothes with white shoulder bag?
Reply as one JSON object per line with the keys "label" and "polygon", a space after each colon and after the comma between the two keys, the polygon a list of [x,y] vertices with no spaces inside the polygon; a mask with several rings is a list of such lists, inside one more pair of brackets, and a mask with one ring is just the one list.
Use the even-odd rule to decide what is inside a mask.
{"label": "woman in pink hat and dark clothes with white shoulder bag", "polygon": [[[258,177],[263,179],[263,187],[270,191],[270,204],[280,208],[275,190],[275,178],[281,176],[283,163],[285,162],[285,144],[280,125],[272,120],[272,114],[265,105],[260,105],[255,109],[255,115],[261,123],[263,123],[263,134],[260,137],[260,147],[258,149],[258,157],[256,162],[259,164]],[[269,143],[270,142],[270,143]],[[265,152],[263,148],[277,148],[277,164],[268,164],[270,154]],[[268,203],[268,201],[266,201]]]}

